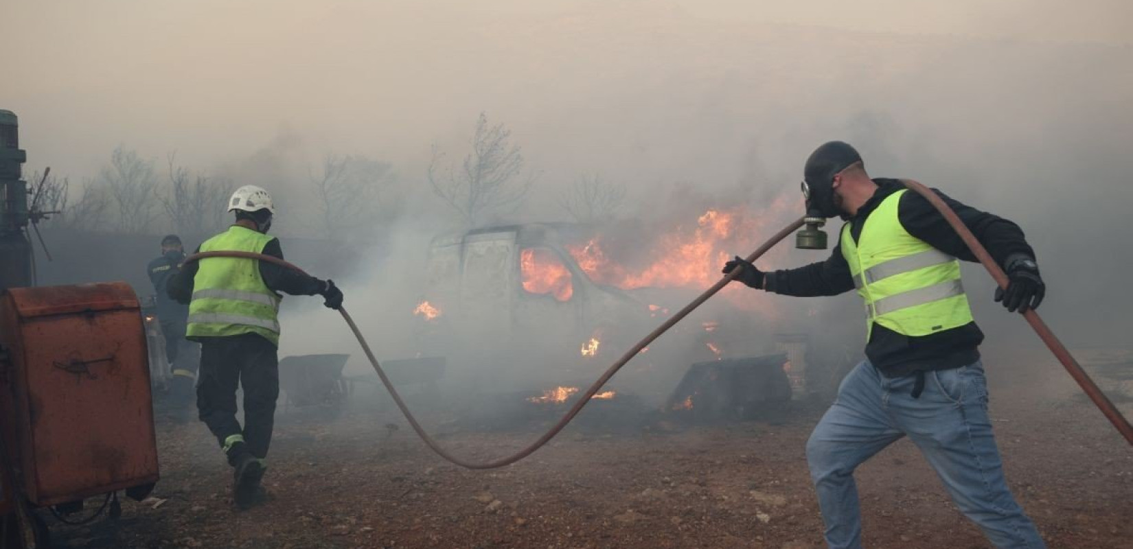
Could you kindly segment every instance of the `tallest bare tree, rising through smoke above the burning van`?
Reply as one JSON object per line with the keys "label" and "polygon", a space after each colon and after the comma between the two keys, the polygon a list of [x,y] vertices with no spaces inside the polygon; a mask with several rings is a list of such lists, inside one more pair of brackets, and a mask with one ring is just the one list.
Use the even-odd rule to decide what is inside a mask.
{"label": "tallest bare tree, rising through smoke above the burning van", "polygon": [[433,191],[469,225],[485,221],[488,214],[518,208],[535,181],[535,173],[517,179],[523,169],[523,155],[510,137],[511,131],[503,125],[488,126],[482,112],[470,143],[472,151],[459,171],[451,164],[442,169],[444,153],[433,147],[428,165]]}

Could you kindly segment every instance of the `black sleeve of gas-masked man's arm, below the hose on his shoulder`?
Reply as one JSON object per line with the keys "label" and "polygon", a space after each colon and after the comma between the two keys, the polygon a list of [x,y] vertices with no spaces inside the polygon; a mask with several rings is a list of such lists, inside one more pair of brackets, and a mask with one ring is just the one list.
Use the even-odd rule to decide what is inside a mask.
{"label": "black sleeve of gas-masked man's arm, below the hose on his shoulder", "polygon": [[[1000,267],[1006,268],[1008,258],[1016,255],[1034,259],[1034,250],[1026,243],[1023,230],[1019,225],[954,200],[937,189],[932,191],[956,212],[960,221],[964,222],[968,230],[976,235],[976,240],[987,248],[988,254],[991,254],[991,258]],[[925,197],[915,191],[905,192],[897,207],[897,218],[909,234],[965,261],[977,260],[960,234],[956,234],[948,221]]]}

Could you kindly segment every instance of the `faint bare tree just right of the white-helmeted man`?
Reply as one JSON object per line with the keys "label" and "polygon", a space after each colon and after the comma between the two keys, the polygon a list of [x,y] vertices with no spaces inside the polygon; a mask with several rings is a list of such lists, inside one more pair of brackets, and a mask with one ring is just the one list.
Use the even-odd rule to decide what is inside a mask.
{"label": "faint bare tree just right of the white-helmeted man", "polygon": [[393,170],[385,162],[326,155],[322,173],[310,174],[324,235],[342,238],[387,222],[397,203],[393,182]]}

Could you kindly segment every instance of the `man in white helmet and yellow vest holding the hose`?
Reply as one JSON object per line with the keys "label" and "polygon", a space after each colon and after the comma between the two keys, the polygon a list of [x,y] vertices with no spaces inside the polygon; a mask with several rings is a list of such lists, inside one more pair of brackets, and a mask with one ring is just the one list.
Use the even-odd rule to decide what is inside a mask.
{"label": "man in white helmet and yellow vest holding the hose", "polygon": [[[267,235],[275,208],[266,190],[244,186],[228,211],[236,223],[206,240],[202,251],[252,251],[280,259],[279,239]],[[233,500],[240,508],[263,501],[261,479],[272,439],[279,396],[280,293],[323,295],[326,307],[342,307],[331,281],[272,263],[205,258],[185,265],[169,282],[169,295],[189,303],[187,337],[201,342],[197,411],[233,467]],[[244,427],[236,419],[236,392],[244,388]]]}

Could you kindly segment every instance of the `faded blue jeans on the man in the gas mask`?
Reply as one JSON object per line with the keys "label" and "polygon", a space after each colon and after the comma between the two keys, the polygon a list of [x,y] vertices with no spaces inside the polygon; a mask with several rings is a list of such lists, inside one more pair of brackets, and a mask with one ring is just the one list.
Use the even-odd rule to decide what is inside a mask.
{"label": "faded blue jeans on the man in the gas mask", "polygon": [[858,364],[842,380],[837,400],[807,441],[810,478],[830,549],[861,548],[853,471],[906,435],[936,470],[956,507],[995,547],[1045,548],[1004,481],[987,413],[983,366],[976,362],[925,372],[919,398],[912,397],[915,378],[889,379],[868,361]]}

